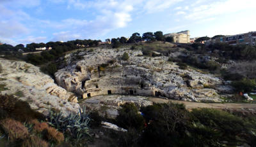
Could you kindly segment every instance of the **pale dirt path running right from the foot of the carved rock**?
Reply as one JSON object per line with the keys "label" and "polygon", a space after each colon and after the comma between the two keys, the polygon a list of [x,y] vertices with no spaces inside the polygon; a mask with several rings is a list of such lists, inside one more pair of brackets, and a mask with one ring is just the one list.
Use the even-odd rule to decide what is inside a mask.
{"label": "pale dirt path running right from the foot of the carved rock", "polygon": [[167,100],[160,99],[155,97],[149,97],[149,101],[156,103],[163,102],[177,102],[179,104],[185,104],[187,109],[193,108],[214,108],[214,109],[234,109],[234,110],[253,110],[256,111],[256,104],[246,104],[246,103],[204,103],[204,102],[186,102],[186,101],[177,101],[177,100]]}

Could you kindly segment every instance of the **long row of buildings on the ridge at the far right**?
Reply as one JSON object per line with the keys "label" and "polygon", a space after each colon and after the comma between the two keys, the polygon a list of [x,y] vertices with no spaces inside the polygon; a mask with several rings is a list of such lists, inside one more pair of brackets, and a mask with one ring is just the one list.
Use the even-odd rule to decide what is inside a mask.
{"label": "long row of buildings on the ridge at the far right", "polygon": [[247,32],[244,34],[236,34],[232,36],[225,36],[215,38],[207,41],[208,43],[228,43],[228,45],[256,45],[256,31]]}

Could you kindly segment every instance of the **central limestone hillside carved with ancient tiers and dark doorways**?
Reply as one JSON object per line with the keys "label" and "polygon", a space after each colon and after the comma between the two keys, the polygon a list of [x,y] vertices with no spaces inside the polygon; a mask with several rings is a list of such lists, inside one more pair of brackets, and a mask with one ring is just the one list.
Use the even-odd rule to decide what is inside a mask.
{"label": "central limestone hillside carved with ancient tiers and dark doorways", "polygon": [[[122,60],[124,52],[129,60]],[[223,80],[194,69],[179,69],[168,57],[145,57],[139,50],[95,49],[80,52],[82,60],[65,57],[68,66],[56,74],[58,85],[83,98],[95,95],[130,94],[182,99],[184,101],[221,101],[214,88]]]}

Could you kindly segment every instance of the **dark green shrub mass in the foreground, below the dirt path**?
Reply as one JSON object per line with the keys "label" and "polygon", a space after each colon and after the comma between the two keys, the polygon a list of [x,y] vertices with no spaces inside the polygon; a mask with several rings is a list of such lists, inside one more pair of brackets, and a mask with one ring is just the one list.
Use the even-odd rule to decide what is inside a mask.
{"label": "dark green shrub mass in the foreground, below the dirt path", "polygon": [[117,122],[128,132],[114,136],[116,146],[256,146],[254,116],[206,108],[188,111],[173,103],[140,111],[141,116],[134,104],[120,110]]}

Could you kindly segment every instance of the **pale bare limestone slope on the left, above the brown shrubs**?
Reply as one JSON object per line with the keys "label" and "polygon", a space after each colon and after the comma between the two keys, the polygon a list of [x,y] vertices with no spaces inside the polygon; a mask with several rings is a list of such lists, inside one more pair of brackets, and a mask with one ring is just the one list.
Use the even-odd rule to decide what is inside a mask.
{"label": "pale bare limestone slope on the left, above the brown shrubs", "polygon": [[6,59],[0,59],[0,64],[3,66],[0,85],[4,87],[1,94],[15,95],[44,115],[49,109],[60,110],[63,115],[79,111],[77,97],[56,85],[50,76],[40,72],[39,67]]}

